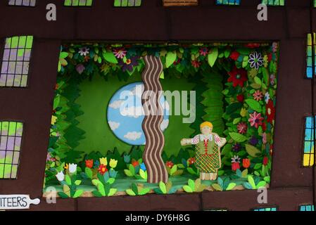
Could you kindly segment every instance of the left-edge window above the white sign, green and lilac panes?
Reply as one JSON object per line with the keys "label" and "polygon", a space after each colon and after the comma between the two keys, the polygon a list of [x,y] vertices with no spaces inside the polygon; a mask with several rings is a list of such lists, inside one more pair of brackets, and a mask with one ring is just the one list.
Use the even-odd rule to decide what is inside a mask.
{"label": "left-edge window above the white sign, green and lilac panes", "polygon": [[0,179],[17,177],[22,133],[22,122],[0,122]]}

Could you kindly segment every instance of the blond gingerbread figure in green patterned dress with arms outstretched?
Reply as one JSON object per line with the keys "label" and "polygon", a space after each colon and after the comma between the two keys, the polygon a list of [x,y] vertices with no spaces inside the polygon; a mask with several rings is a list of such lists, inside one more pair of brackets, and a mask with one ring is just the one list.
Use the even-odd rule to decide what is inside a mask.
{"label": "blond gingerbread figure in green patterned dress with arms outstretched", "polygon": [[181,145],[195,145],[195,165],[200,170],[201,180],[216,180],[218,169],[222,166],[220,148],[225,145],[226,139],[212,132],[213,124],[203,122],[200,125],[201,134],[193,139],[182,139]]}

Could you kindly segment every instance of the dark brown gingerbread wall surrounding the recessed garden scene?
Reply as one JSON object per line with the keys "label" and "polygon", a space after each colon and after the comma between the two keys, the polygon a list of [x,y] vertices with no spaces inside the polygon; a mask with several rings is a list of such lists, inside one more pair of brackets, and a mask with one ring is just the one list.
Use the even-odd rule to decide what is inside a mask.
{"label": "dark brown gingerbread wall surrounding the recessed garden scene", "polygon": [[[257,20],[260,0],[241,6],[163,7],[162,0],[143,0],[139,8],[114,8],[113,0],[94,0],[91,8],[64,7],[61,0],[37,0],[36,7],[7,6],[0,1],[0,49],[4,39],[34,36],[28,87],[0,89],[1,120],[24,122],[23,149],[17,180],[0,180],[0,194],[30,194],[41,198],[44,181],[53,89],[63,41],[280,41],[277,115],[272,181],[267,206],[298,210],[312,204],[312,168],[303,168],[303,125],[312,113],[312,84],[305,79],[306,37],[316,30],[316,9],[310,0],[286,0],[268,7],[268,20]],[[46,20],[46,4],[56,4],[57,21]],[[311,19],[312,18],[312,19]],[[0,52],[2,56],[2,52]],[[46,204],[32,210],[251,210],[257,191],[141,197],[80,198]]]}

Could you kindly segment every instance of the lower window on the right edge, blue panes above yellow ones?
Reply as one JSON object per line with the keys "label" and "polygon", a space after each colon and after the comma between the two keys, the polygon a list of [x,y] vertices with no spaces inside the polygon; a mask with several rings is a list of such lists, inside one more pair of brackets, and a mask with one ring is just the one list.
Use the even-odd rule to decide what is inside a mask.
{"label": "lower window on the right edge, blue panes above yellow ones", "polygon": [[303,166],[311,167],[314,165],[314,122],[312,117],[305,117],[305,137]]}

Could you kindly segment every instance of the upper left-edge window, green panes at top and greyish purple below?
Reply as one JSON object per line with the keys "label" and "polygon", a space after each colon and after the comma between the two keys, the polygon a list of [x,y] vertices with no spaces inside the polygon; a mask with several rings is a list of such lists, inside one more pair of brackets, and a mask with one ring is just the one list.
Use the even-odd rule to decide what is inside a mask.
{"label": "upper left-edge window, green panes at top and greyish purple below", "polygon": [[8,37],[4,46],[0,86],[27,86],[33,37]]}

